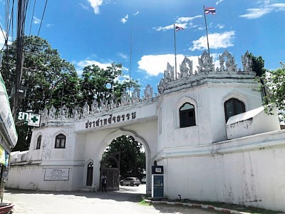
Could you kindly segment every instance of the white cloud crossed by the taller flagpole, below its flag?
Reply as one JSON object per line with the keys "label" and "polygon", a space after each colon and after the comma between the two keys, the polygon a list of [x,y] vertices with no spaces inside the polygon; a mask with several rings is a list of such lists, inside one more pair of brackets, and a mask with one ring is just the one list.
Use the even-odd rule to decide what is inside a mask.
{"label": "white cloud crossed by the taller flagpole, below its flag", "polygon": [[[227,49],[227,47],[234,46],[235,31],[225,31],[222,34],[214,33],[208,34],[210,49]],[[198,40],[193,41],[191,51],[207,49],[207,37],[202,36]]]}

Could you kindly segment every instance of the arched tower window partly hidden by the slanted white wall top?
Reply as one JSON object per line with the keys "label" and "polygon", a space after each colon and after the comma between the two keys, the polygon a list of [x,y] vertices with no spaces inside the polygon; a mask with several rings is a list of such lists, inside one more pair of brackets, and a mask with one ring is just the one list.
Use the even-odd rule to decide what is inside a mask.
{"label": "arched tower window partly hidden by the slanted white wall top", "polygon": [[239,101],[236,98],[230,98],[224,102],[224,115],[226,122],[231,116],[237,115],[239,113],[245,112],[245,106],[242,101]]}

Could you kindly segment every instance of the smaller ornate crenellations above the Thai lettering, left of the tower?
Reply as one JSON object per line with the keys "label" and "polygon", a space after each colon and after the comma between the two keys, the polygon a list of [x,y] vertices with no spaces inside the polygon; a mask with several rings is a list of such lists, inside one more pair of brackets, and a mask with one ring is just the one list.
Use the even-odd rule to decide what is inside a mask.
{"label": "smaller ornate crenellations above the Thai lettering, left of the tower", "polygon": [[120,108],[122,106],[130,106],[135,103],[143,103],[151,101],[152,98],[157,96],[157,94],[152,92],[152,86],[147,84],[144,91],[144,96],[140,97],[140,88],[134,88],[133,92],[123,91],[122,95],[118,99],[115,94],[110,94],[108,98],[100,99],[100,102],[93,100],[93,103],[89,106],[86,102],[83,108],[76,106],[72,111],[69,111],[65,105],[61,108],[56,109],[54,106],[51,106],[49,110],[44,108],[41,111],[41,120],[50,121],[58,120],[65,118],[75,118],[76,120],[81,118],[86,118],[90,114],[108,112],[112,111],[115,108]]}

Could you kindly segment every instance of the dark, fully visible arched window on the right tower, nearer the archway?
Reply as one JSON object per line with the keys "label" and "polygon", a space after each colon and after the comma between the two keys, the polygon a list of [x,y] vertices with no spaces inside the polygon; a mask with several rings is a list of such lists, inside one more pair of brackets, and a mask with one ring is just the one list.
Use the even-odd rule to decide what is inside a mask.
{"label": "dark, fully visible arched window on the right tower, nearer the archway", "polygon": [[179,109],[180,128],[196,126],[195,107],[190,103],[185,103]]}

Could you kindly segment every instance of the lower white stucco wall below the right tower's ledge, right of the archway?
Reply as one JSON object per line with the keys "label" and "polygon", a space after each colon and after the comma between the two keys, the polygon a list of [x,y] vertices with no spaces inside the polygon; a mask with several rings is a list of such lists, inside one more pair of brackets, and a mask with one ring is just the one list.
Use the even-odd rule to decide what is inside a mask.
{"label": "lower white stucco wall below the right tower's ledge, right of the archway", "polygon": [[284,211],[284,152],[277,131],[165,153],[165,194]]}

